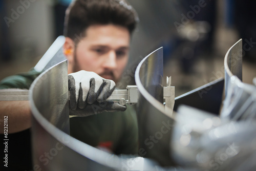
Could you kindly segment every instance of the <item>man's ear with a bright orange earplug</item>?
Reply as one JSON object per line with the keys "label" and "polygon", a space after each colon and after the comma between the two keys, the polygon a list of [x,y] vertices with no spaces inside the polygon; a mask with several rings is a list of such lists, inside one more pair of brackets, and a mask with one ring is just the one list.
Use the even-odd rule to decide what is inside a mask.
{"label": "man's ear with a bright orange earplug", "polygon": [[71,38],[66,37],[65,43],[63,46],[63,54],[65,54],[69,63],[73,63],[74,61],[74,50],[75,50],[74,41]]}

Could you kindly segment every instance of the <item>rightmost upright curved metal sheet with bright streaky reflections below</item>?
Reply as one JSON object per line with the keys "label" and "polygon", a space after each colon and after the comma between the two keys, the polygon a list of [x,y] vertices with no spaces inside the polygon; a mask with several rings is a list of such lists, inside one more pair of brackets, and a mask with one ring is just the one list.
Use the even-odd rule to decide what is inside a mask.
{"label": "rightmost upright curved metal sheet with bright streaky reflections below", "polygon": [[256,118],[256,87],[242,82],[242,39],[228,50],[224,66],[226,97],[221,117],[227,121]]}

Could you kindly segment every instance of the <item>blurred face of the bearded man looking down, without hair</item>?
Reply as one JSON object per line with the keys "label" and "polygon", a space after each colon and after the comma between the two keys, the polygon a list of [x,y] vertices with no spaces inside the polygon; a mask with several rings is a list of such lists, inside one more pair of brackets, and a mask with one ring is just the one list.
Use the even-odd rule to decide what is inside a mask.
{"label": "blurred face of the bearded man looking down, without hair", "polygon": [[129,45],[130,33],[124,27],[112,24],[90,26],[86,36],[81,37],[71,55],[67,56],[68,72],[93,71],[117,82],[129,57]]}

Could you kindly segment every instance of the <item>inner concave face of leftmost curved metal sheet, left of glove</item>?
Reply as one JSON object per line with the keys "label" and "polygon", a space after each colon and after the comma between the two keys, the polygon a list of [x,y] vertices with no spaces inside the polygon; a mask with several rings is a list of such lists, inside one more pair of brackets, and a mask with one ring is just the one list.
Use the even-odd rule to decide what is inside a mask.
{"label": "inner concave face of leftmost curved metal sheet, left of glove", "polygon": [[[66,60],[40,74],[31,84],[29,101],[33,117],[69,134],[68,95]],[[40,120],[42,116],[44,119]]]}

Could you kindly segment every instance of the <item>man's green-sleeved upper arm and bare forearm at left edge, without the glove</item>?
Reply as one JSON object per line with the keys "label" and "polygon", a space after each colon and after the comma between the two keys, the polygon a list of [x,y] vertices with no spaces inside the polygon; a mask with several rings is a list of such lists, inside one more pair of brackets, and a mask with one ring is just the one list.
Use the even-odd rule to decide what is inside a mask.
{"label": "man's green-sleeved upper arm and bare forearm at left edge, without the glove", "polygon": [[[0,82],[0,89],[28,90],[40,72],[31,69],[26,73],[19,73],[4,78]],[[0,101],[0,134],[4,133],[4,116],[8,116],[8,133],[24,131],[31,127],[31,113],[29,101]]]}

